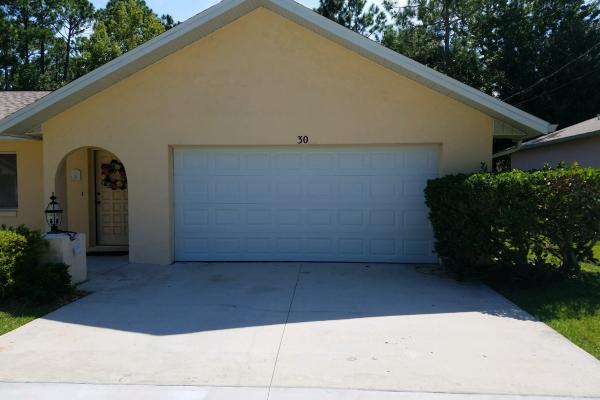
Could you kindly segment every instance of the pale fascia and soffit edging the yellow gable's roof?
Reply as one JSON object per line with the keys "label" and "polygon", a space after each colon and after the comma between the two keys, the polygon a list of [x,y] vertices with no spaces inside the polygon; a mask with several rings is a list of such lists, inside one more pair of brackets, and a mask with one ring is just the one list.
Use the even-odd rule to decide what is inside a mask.
{"label": "pale fascia and soffit edging the yellow gable's roof", "polygon": [[510,124],[528,137],[553,130],[548,122],[396,53],[293,0],[223,0],[0,120],[0,134],[19,135],[35,129],[49,118],[259,7],[271,10],[386,68]]}

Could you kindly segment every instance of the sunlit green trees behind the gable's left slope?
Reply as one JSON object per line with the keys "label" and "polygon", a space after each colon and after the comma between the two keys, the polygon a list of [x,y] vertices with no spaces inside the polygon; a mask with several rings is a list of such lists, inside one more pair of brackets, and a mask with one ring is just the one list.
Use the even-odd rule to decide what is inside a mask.
{"label": "sunlit green trees behind the gable's left slope", "polygon": [[174,25],[143,0],[0,0],[0,88],[57,89]]}

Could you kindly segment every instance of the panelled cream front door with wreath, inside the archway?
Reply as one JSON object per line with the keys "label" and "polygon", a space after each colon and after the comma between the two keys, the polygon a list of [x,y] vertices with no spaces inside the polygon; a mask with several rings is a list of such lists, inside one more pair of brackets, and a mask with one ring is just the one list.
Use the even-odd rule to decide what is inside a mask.
{"label": "panelled cream front door with wreath, inside the archway", "polygon": [[[115,165],[118,158],[107,151],[97,150],[96,165],[96,241],[100,246],[123,246],[128,244],[127,187],[110,187],[103,166]],[[106,171],[106,168],[105,168]],[[116,174],[115,174],[116,175]],[[113,181],[118,181],[115,176]]]}

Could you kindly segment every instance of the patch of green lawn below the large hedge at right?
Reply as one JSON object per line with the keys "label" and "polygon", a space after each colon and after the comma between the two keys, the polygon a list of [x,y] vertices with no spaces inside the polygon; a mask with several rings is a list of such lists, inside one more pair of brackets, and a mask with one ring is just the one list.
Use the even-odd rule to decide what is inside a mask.
{"label": "patch of green lawn below the large hedge at right", "polygon": [[[600,243],[594,253],[600,258]],[[600,266],[586,264],[580,278],[550,287],[499,291],[600,359]]]}

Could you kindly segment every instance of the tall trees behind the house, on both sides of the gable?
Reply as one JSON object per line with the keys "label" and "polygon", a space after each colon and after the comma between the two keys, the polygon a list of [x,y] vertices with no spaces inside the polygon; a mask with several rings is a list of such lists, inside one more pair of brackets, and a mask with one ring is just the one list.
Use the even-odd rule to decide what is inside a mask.
{"label": "tall trees behind the house, on both sides of the gable", "polygon": [[[600,112],[600,0],[320,0],[315,11],[561,126]],[[143,0],[0,0],[0,88],[57,89],[174,25]]]}

